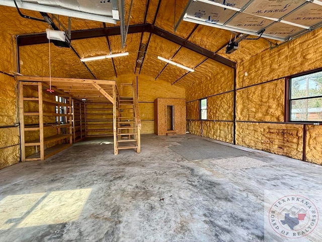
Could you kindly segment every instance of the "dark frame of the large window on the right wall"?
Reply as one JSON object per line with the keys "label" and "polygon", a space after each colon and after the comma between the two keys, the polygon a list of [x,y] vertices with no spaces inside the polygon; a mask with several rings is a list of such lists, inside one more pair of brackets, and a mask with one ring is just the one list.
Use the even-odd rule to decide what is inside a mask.
{"label": "dark frame of the large window on the right wall", "polygon": [[302,73],[298,73],[295,75],[291,75],[285,78],[285,115],[284,115],[284,122],[288,123],[301,123],[301,124],[321,124],[321,120],[292,120],[292,101],[294,100],[306,100],[306,99],[314,99],[314,98],[322,98],[322,95],[318,96],[309,96],[309,97],[302,97],[302,98],[291,98],[292,96],[292,79],[296,77],[302,77],[309,74],[314,74],[320,72],[322,75],[322,68],[318,68],[315,70],[310,70]]}

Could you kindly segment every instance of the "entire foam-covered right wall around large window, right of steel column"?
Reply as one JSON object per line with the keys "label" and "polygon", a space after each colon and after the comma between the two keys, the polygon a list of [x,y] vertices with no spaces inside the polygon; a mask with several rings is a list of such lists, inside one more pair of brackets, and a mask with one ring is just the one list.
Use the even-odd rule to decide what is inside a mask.
{"label": "entire foam-covered right wall around large window, right of steel column", "polygon": [[[236,87],[254,87],[237,91],[237,118],[251,121],[283,122],[284,85],[286,76],[314,70],[322,66],[321,30],[314,30],[277,48],[263,51],[237,65]],[[248,76],[245,76],[245,71]],[[279,79],[266,84],[265,81]],[[247,93],[248,92],[248,93]],[[254,97],[251,97],[253,95]],[[248,96],[248,97],[247,97]],[[254,108],[257,108],[257,113]],[[303,125],[237,123],[238,144],[264,149],[276,154],[302,159]],[[248,133],[251,132],[251,133]],[[269,136],[267,137],[267,132]],[[273,135],[275,132],[275,135]],[[322,126],[307,126],[306,161],[321,164],[319,141]],[[242,136],[246,134],[241,141]],[[260,142],[260,139],[266,139]],[[255,140],[253,140],[255,139]]]}

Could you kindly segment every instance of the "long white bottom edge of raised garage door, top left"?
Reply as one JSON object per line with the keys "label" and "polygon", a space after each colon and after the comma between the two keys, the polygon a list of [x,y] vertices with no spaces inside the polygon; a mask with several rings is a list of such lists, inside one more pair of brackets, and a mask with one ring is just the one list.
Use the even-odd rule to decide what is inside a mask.
{"label": "long white bottom edge of raised garage door, top left", "polygon": [[[16,8],[15,3],[12,0],[0,0],[0,5]],[[50,7],[50,6],[40,5],[40,4],[31,4],[31,3],[20,2],[20,1],[17,1],[17,5],[20,9],[28,9],[28,10],[34,10],[34,11],[44,12],[49,14],[58,14],[58,15],[64,15],[64,16],[69,16],[74,18],[88,19],[88,20],[94,20],[98,22],[116,24],[116,20],[112,19],[111,17],[97,15],[97,14],[77,12],[77,11],[68,10],[68,9],[61,9],[61,8],[55,8],[55,7]]]}

